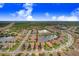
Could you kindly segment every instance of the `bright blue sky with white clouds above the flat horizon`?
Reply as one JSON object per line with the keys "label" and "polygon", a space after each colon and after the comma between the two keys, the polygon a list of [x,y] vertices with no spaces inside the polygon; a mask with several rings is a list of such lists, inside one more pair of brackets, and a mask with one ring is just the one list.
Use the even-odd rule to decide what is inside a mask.
{"label": "bright blue sky with white clouds above the flat horizon", "polygon": [[79,3],[0,3],[0,21],[79,21]]}

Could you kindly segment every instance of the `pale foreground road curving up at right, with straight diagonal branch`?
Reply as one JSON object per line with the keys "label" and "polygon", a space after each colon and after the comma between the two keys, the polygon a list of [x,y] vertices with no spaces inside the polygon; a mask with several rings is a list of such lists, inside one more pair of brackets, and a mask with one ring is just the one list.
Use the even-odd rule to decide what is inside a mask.
{"label": "pale foreground road curving up at right, with straight diagonal branch", "polygon": [[67,35],[68,35],[68,42],[66,43],[66,45],[61,45],[60,48],[58,48],[58,49],[52,49],[52,51],[47,51],[47,50],[43,50],[43,51],[42,50],[41,51],[19,51],[19,49],[22,47],[22,45],[28,39],[30,33],[31,33],[31,30],[27,33],[27,35],[25,36],[25,38],[23,39],[23,41],[21,42],[19,47],[14,52],[0,52],[0,53],[10,53],[12,55],[15,55],[17,53],[26,53],[26,52],[30,53],[30,54],[31,53],[40,53],[40,52],[45,52],[45,53],[52,52],[53,53],[53,52],[61,51],[61,49],[65,48],[65,47],[69,47],[69,46],[71,46],[73,44],[73,37],[72,37],[72,35],[66,32]]}

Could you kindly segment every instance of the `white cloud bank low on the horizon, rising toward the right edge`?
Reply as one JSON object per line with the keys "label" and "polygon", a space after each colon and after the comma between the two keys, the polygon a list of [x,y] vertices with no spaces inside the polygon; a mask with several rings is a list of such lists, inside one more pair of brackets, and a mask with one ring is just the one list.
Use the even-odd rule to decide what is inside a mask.
{"label": "white cloud bank low on the horizon, rising toward the right edge", "polygon": [[70,16],[52,16],[53,21],[79,21],[79,8],[71,12]]}

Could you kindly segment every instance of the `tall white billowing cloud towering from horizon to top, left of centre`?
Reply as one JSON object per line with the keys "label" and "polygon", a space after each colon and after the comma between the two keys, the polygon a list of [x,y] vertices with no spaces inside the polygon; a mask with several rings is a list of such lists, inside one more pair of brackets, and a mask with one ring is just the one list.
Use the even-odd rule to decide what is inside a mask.
{"label": "tall white billowing cloud towering from horizon to top, left of centre", "polygon": [[25,21],[32,21],[32,3],[25,3],[23,4],[22,10],[17,11],[16,13],[12,14],[12,16],[15,16],[17,19],[25,20]]}

